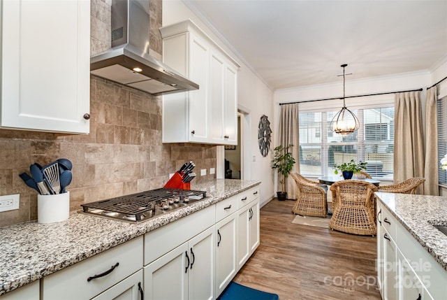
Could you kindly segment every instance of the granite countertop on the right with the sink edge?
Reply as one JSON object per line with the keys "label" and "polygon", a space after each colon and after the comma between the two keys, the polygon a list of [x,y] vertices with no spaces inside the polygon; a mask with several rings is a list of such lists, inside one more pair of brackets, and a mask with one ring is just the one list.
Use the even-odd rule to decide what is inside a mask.
{"label": "granite countertop on the right with the sink edge", "polygon": [[376,192],[396,219],[447,271],[447,236],[432,225],[447,225],[447,198]]}

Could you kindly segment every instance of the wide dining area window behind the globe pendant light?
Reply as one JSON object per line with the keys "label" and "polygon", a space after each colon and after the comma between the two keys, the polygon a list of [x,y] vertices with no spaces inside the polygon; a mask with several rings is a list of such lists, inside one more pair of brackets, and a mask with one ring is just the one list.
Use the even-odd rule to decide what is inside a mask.
{"label": "wide dining area window behind the globe pendant light", "polygon": [[335,164],[354,159],[368,162],[367,172],[373,177],[393,180],[393,105],[353,110],[360,128],[347,136],[329,129],[338,110],[300,113],[301,173],[304,176],[331,176]]}

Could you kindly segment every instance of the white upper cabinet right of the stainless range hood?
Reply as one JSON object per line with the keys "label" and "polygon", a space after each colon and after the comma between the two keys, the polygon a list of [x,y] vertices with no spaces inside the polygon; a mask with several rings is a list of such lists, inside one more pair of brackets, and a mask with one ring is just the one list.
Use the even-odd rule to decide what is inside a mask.
{"label": "white upper cabinet right of the stainless range hood", "polygon": [[236,145],[240,66],[191,20],[160,30],[163,62],[199,85],[163,96],[163,143]]}

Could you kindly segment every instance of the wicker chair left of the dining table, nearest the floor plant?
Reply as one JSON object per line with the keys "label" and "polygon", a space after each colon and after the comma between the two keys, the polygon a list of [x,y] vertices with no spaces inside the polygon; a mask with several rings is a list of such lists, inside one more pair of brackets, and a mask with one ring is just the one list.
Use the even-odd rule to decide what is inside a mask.
{"label": "wicker chair left of the dining table, nearest the floor plant", "polygon": [[291,173],[291,177],[298,186],[298,199],[292,208],[292,212],[297,215],[326,217],[328,201],[325,189],[318,185],[316,181],[304,178],[298,173]]}

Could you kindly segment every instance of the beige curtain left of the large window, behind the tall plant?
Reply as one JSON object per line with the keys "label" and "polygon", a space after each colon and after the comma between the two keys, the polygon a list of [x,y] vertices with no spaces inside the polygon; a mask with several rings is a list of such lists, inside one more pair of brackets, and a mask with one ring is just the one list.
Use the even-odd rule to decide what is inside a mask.
{"label": "beige curtain left of the large window, behind the tall plant", "polygon": [[[298,112],[298,103],[281,105],[281,114],[279,115],[279,145],[283,145],[284,147],[293,145],[291,152],[296,163],[293,166],[292,172],[300,173]],[[281,190],[281,187],[279,187],[279,190]],[[286,192],[288,199],[297,199],[298,189],[295,181],[291,178],[288,178],[286,181]]]}

